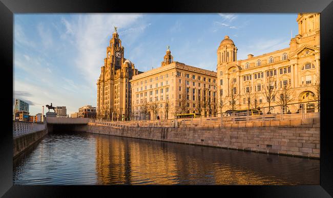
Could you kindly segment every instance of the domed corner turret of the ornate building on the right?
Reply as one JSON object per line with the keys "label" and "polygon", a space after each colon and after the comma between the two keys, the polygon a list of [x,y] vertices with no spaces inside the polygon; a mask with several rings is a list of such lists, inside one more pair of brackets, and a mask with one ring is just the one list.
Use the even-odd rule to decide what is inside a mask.
{"label": "domed corner turret of the ornate building on the right", "polygon": [[225,36],[217,49],[217,64],[233,62],[237,60],[237,48],[229,36]]}

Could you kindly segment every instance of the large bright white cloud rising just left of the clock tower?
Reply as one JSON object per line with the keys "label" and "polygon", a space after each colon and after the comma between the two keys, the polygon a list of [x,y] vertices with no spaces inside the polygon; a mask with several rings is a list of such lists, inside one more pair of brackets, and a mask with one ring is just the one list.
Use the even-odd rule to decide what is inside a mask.
{"label": "large bright white cloud rising just left of the clock tower", "polygon": [[128,34],[135,30],[143,31],[149,25],[126,29],[141,16],[140,14],[90,14],[80,15],[68,22],[67,27],[75,30],[73,37],[70,38],[75,40],[77,48],[77,55],[73,57],[74,64],[89,85],[96,88],[95,82],[106,54],[105,40],[111,38],[113,27],[125,29]]}

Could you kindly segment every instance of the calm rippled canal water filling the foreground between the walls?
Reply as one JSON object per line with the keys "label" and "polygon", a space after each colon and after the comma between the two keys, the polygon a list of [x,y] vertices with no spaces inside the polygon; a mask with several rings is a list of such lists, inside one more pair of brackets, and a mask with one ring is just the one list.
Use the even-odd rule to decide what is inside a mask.
{"label": "calm rippled canal water filling the foreground between the walls", "polygon": [[319,185],[319,160],[98,134],[49,134],[14,185]]}

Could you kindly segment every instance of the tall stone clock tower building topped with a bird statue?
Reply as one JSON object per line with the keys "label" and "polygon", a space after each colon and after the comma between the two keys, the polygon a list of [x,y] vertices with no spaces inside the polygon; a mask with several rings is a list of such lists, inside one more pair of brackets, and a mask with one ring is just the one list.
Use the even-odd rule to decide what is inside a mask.
{"label": "tall stone clock tower building topped with a bird statue", "polygon": [[124,47],[118,36],[115,28],[97,80],[97,118],[129,120],[130,80],[139,72],[134,68],[134,63],[124,58]]}

